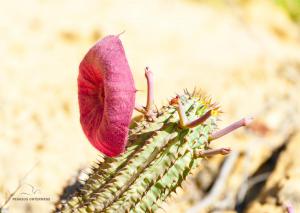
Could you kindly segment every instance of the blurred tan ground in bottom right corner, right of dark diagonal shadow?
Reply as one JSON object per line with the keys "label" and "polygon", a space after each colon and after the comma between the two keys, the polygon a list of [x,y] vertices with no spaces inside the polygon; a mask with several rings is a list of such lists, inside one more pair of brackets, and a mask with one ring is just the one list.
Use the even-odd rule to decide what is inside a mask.
{"label": "blurred tan ground in bottom right corner, right of dark diagonal shadow", "polygon": [[282,207],[293,205],[300,208],[300,132],[294,135],[286,145],[260,195],[251,203],[247,212],[281,212]]}

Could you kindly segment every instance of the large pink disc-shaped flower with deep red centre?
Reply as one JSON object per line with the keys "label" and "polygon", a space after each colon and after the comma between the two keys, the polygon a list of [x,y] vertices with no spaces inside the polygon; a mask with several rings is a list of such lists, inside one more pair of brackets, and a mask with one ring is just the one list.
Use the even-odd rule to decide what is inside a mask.
{"label": "large pink disc-shaped flower with deep red centre", "polygon": [[79,66],[80,123],[90,143],[109,157],[121,154],[136,89],[119,36],[97,42]]}

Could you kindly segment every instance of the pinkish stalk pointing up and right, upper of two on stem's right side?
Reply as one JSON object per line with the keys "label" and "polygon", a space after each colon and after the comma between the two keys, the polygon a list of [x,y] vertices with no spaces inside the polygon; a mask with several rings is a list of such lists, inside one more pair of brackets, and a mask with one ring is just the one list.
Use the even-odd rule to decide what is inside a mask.
{"label": "pinkish stalk pointing up and right, upper of two on stem's right side", "polygon": [[223,137],[224,135],[227,135],[228,133],[231,133],[232,131],[234,131],[242,126],[248,126],[252,121],[253,121],[252,117],[243,118],[239,121],[236,121],[236,122],[230,124],[229,126],[225,127],[224,129],[221,129],[217,132],[212,133],[208,140],[212,141],[212,140],[216,140],[220,137]]}

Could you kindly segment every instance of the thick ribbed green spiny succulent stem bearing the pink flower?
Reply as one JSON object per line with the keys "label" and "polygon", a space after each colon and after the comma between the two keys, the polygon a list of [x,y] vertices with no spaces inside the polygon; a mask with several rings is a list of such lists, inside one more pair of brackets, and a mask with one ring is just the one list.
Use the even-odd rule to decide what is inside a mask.
{"label": "thick ribbed green spiny succulent stem bearing the pink flower", "polygon": [[208,149],[219,110],[198,92],[180,96],[188,119],[212,110],[193,128],[180,128],[176,107],[164,106],[154,121],[136,122],[129,132],[126,152],[104,157],[85,184],[58,212],[153,212],[175,192],[201,162],[196,151]]}

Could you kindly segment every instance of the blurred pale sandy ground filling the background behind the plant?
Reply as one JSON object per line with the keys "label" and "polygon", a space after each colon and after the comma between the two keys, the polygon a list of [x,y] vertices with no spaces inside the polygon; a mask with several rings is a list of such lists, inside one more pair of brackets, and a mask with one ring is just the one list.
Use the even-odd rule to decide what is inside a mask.
{"label": "blurred pale sandy ground filling the background behind the plant", "polygon": [[[10,200],[3,211],[50,212],[71,177],[97,158],[79,124],[78,65],[98,39],[124,30],[142,90],[137,102],[145,103],[150,66],[159,106],[196,86],[222,106],[221,126],[256,117],[248,130],[215,144],[231,146],[239,157],[204,211],[285,212],[289,203],[300,211],[300,28],[295,14],[274,2],[1,0],[0,206],[20,181],[15,197],[50,198]],[[199,204],[223,160],[205,161],[166,212]],[[245,184],[262,174],[247,200]],[[31,186],[39,192],[33,195]]]}

